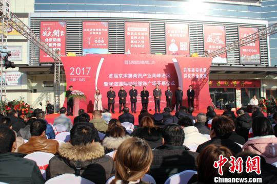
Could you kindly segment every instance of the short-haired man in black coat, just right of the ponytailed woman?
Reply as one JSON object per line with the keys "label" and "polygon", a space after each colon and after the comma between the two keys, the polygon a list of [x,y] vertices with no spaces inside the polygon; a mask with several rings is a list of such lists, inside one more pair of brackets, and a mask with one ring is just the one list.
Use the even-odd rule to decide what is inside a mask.
{"label": "short-haired man in black coat, just right of the ponytailed woman", "polygon": [[154,177],[156,183],[165,183],[170,176],[185,170],[196,171],[198,153],[183,146],[183,128],[174,123],[166,125],[162,136],[164,144],[152,150],[153,162],[148,173]]}

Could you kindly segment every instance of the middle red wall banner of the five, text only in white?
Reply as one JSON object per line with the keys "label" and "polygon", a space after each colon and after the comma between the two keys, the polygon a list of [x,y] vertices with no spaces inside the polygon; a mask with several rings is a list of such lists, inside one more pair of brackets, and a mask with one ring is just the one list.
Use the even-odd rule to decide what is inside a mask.
{"label": "middle red wall banner of the five, text only in white", "polygon": [[150,54],[149,22],[125,22],[125,52]]}

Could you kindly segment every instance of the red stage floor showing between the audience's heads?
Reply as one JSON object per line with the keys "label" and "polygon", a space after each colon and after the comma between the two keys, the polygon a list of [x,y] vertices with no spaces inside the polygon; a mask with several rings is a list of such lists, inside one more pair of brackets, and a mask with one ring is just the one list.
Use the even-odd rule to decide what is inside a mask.
{"label": "red stage floor showing between the audience's heads", "polygon": [[[206,111],[198,111],[198,110],[195,110],[192,114],[193,114],[193,116],[196,116],[196,115],[197,115],[198,113],[200,113],[200,112],[206,113]],[[224,112],[224,110],[215,110],[215,112],[216,112],[216,114],[221,115],[221,114]],[[149,113],[154,114],[155,112],[154,112],[154,111],[149,111]],[[112,118],[118,119],[118,117],[119,117],[121,114],[122,114],[122,113],[118,113],[118,112],[115,112],[114,114],[112,113]],[[134,119],[135,119],[134,125],[138,125],[138,115],[140,115],[140,112],[136,112],[136,113],[132,113],[132,114],[134,115]],[[174,114],[175,114],[175,111],[171,112],[171,114],[174,115]],[[48,123],[53,124],[53,123],[54,123],[54,119],[55,119],[56,117],[58,117],[58,116],[60,116],[60,114],[58,114],[58,113],[47,114],[45,119],[47,120]],[[90,116],[90,118],[92,118],[92,113],[89,113],[89,116]],[[73,120],[74,120],[75,116],[68,116],[68,118],[71,119],[71,122],[72,122],[72,124],[73,124]]]}

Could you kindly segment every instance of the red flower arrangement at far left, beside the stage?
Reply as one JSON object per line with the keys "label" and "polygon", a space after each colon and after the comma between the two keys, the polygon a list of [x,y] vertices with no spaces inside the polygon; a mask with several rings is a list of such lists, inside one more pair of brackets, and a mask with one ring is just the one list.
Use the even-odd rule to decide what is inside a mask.
{"label": "red flower arrangement at far left, beside the stage", "polygon": [[19,117],[24,119],[24,118],[30,118],[32,116],[33,111],[30,110],[30,105],[24,103],[24,102],[19,102],[19,101],[12,101],[9,102],[6,106],[5,106],[5,110],[6,113],[8,113],[8,111],[10,109],[14,109],[16,111],[19,111]]}

